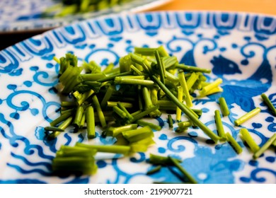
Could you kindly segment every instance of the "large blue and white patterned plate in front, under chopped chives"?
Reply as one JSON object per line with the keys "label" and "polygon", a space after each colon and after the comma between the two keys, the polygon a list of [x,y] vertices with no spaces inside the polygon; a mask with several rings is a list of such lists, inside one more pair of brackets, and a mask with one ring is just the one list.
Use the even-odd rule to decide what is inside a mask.
{"label": "large blue and white patterned plate in front, under chopped chives", "polygon": [[[238,132],[246,127],[262,146],[276,132],[276,117],[260,98],[266,93],[276,105],[276,18],[248,13],[157,12],[104,16],[47,31],[0,52],[0,183],[151,183],[181,182],[168,168],[148,176],[149,153],[176,156],[200,183],[275,183],[275,148],[258,160],[243,144]],[[156,145],[146,153],[125,158],[97,156],[96,175],[56,177],[51,161],[59,146],[110,144],[100,137],[88,141],[85,134],[63,133],[45,141],[43,127],[58,116],[55,92],[58,65],[54,56],[73,52],[82,60],[102,66],[137,47],[163,45],[180,62],[212,69],[209,81],[222,78],[223,93],[194,100],[203,110],[200,120],[214,132],[217,100],[226,98],[229,117],[224,130],[241,144],[236,154],[228,143],[209,144],[200,129],[176,134],[166,115],[154,120],[162,126],[154,132]],[[234,120],[260,107],[261,112],[241,127]],[[175,115],[173,115],[174,117]],[[177,127],[177,124],[174,125]]]}

